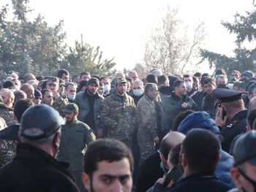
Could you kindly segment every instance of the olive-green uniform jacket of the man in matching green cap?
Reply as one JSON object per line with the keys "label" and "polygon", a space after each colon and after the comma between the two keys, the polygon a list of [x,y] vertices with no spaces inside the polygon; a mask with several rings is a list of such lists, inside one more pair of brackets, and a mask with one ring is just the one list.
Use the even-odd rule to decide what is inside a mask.
{"label": "olive-green uniform jacket of the man in matching green cap", "polygon": [[61,145],[58,160],[70,164],[70,171],[83,170],[83,155],[89,142],[95,140],[94,132],[79,120],[61,127]]}

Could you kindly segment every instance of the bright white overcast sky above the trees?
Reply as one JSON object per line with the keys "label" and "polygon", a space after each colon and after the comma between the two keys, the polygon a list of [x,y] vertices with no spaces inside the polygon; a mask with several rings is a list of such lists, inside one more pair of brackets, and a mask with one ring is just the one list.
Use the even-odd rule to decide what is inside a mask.
{"label": "bright white overcast sky above the trees", "polygon": [[[1,0],[0,5],[10,3]],[[67,43],[74,45],[83,34],[84,42],[100,46],[104,58],[115,57],[117,69],[132,69],[143,60],[143,50],[151,28],[162,17],[167,4],[178,6],[184,23],[195,27],[199,20],[206,23],[208,38],[204,48],[232,54],[234,36],[221,25],[233,20],[236,12],[252,9],[252,0],[30,0],[34,13],[41,13],[50,25],[64,19]]]}

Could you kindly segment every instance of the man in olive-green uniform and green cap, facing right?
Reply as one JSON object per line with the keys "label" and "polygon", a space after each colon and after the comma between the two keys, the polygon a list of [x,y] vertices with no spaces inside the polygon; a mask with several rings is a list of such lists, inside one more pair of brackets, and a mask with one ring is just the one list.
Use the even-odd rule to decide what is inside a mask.
{"label": "man in olive-green uniform and green cap, facing right", "polygon": [[85,191],[82,182],[83,155],[89,142],[95,140],[94,132],[78,120],[78,105],[71,103],[64,108],[66,123],[61,127],[61,145],[58,159],[69,163],[69,172],[75,177],[80,191]]}

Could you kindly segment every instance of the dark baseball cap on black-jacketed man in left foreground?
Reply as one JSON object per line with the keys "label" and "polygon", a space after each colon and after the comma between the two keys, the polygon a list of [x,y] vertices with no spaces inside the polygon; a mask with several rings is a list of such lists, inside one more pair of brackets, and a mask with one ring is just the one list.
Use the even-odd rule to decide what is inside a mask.
{"label": "dark baseball cap on black-jacketed man in left foreground", "polygon": [[59,112],[46,104],[29,107],[20,122],[20,135],[27,139],[48,138],[64,124]]}

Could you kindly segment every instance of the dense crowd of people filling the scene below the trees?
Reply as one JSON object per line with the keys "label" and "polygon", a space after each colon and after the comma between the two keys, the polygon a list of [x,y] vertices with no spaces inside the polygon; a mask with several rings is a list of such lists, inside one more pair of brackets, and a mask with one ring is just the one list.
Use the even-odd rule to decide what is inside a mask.
{"label": "dense crowd of people filling the scene below the trees", "polygon": [[256,191],[254,72],[60,69],[0,86],[0,191]]}

